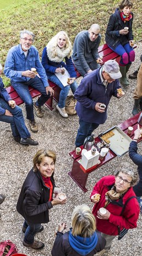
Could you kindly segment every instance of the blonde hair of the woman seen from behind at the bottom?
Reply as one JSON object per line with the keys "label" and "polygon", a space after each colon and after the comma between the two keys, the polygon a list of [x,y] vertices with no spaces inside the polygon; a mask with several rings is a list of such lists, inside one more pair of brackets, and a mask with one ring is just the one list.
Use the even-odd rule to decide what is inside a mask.
{"label": "blonde hair of the woman seen from behind at the bottom", "polygon": [[81,237],[91,237],[96,230],[96,220],[86,205],[78,205],[72,214],[72,235]]}

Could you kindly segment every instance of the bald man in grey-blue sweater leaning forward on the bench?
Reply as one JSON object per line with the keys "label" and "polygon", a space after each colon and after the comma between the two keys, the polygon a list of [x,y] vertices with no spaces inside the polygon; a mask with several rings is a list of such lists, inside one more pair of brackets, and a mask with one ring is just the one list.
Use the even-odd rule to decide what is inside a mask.
{"label": "bald man in grey-blue sweater leaning forward on the bench", "polygon": [[75,37],[72,58],[74,66],[83,77],[99,68],[99,63],[102,63],[98,53],[100,42],[101,35],[98,24],[92,24],[89,30],[83,30]]}

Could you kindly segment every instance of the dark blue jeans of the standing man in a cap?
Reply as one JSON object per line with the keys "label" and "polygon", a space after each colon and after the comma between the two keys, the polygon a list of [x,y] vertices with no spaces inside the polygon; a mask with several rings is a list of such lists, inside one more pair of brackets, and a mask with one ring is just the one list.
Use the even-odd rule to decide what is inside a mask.
{"label": "dark blue jeans of the standing man in a cap", "polygon": [[99,127],[99,123],[89,123],[79,119],[79,129],[77,137],[75,139],[75,146],[81,146],[84,144],[86,137],[90,136],[91,133]]}

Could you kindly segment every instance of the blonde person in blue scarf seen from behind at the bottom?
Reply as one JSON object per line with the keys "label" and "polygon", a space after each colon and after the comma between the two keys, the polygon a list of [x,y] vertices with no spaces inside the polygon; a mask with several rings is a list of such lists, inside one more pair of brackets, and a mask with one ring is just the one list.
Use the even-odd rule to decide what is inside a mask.
{"label": "blonde person in blue scarf seen from behind at the bottom", "polygon": [[63,233],[65,228],[64,222],[58,226],[52,256],[93,256],[105,247],[106,240],[95,231],[95,217],[85,204],[75,207],[72,214],[72,228]]}

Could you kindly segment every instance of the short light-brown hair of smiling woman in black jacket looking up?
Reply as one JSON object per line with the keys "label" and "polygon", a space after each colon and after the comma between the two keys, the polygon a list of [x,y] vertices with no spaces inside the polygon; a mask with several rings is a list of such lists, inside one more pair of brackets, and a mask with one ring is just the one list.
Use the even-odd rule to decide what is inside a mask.
{"label": "short light-brown hair of smiling woman in black jacket looking up", "polygon": [[40,165],[43,157],[45,156],[51,157],[53,159],[54,164],[56,163],[56,153],[54,151],[48,149],[40,149],[39,151],[37,151],[33,159],[35,172],[38,170],[36,164]]}

